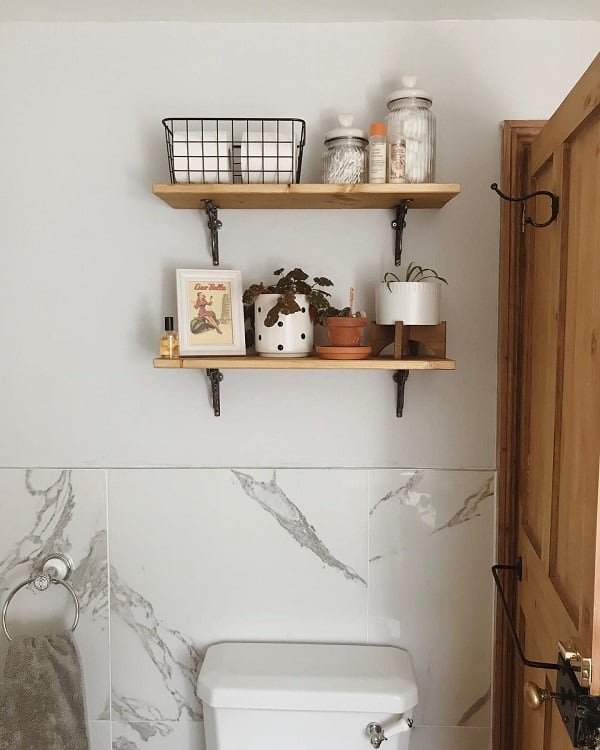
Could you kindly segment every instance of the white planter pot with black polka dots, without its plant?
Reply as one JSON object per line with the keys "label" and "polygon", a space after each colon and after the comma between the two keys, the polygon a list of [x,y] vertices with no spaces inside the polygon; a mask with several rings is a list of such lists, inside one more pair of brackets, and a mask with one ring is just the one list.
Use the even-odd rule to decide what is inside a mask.
{"label": "white planter pot with black polka dots, without its plant", "polygon": [[313,324],[305,294],[297,294],[299,312],[280,315],[274,326],[265,318],[277,302],[278,294],[261,294],[254,302],[255,348],[261,357],[308,357],[313,349]]}

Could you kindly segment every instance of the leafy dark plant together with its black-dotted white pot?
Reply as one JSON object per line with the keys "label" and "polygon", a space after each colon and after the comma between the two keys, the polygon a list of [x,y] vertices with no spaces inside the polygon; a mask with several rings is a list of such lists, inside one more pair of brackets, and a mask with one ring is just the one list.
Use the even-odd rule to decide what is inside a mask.
{"label": "leafy dark plant together with its black-dotted white pot", "polygon": [[[333,282],[301,268],[274,271],[271,284],[252,284],[242,296],[246,319],[254,329],[254,346],[263,357],[307,357],[313,349],[313,327],[332,310]],[[333,308],[334,309],[334,308]],[[337,310],[336,310],[337,312]]]}

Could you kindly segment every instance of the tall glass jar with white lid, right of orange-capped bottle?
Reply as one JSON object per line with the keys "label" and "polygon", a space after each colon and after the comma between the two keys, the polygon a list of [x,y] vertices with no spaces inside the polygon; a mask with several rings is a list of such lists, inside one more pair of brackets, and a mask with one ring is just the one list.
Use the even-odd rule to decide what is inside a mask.
{"label": "tall glass jar with white lid, right of orange-capped bottle", "polygon": [[387,98],[388,182],[435,181],[435,116],[431,96],[402,76],[402,89]]}

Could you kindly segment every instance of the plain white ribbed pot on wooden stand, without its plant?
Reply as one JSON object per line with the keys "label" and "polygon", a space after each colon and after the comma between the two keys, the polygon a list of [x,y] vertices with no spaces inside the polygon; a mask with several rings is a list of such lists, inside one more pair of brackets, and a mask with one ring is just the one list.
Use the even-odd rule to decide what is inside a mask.
{"label": "plain white ribbed pot on wooden stand, without its plant", "polygon": [[440,322],[442,285],[437,281],[390,281],[375,285],[375,321],[432,326]]}

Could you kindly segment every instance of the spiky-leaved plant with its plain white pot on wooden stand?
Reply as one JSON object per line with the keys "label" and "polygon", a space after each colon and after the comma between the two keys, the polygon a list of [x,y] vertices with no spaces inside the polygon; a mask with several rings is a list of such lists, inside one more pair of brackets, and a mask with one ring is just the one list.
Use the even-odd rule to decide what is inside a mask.
{"label": "spiky-leaved plant with its plain white pot on wooden stand", "polygon": [[442,284],[448,282],[433,268],[409,263],[404,277],[386,273],[375,285],[375,321],[379,325],[438,325]]}

